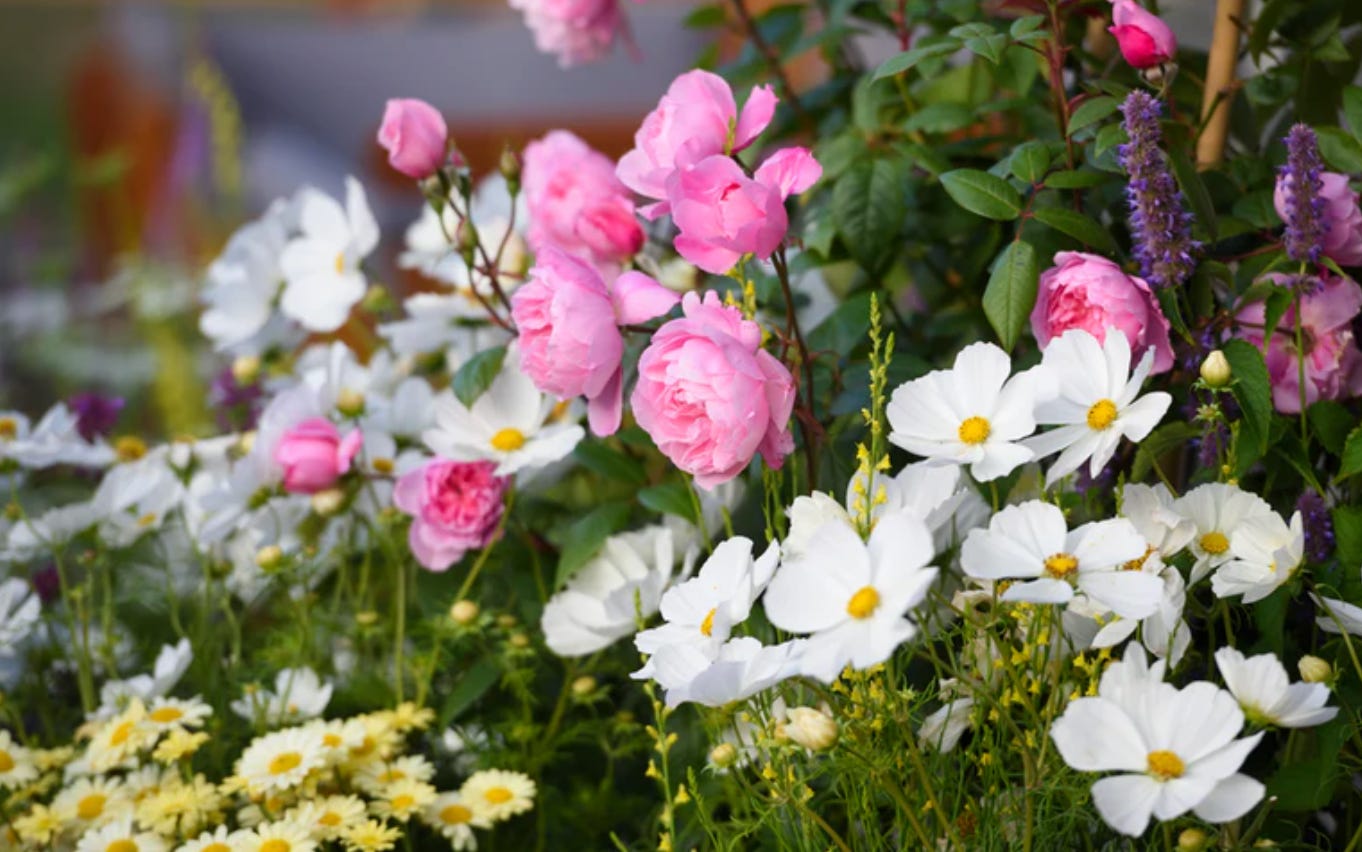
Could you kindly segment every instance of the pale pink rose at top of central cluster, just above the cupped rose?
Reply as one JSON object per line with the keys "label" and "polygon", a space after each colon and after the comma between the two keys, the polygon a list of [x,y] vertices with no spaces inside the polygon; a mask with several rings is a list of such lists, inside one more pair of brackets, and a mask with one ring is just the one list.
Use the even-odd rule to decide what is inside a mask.
{"label": "pale pink rose at top of central cluster, just above the cupped rose", "polygon": [[659,204],[640,210],[648,219],[667,212],[667,180],[684,166],[715,154],[737,154],[771,124],[775,93],[753,87],[742,114],[729,83],[708,71],[688,71],[671,80],[633,135],[633,150],[620,158],[617,174],[624,185]]}

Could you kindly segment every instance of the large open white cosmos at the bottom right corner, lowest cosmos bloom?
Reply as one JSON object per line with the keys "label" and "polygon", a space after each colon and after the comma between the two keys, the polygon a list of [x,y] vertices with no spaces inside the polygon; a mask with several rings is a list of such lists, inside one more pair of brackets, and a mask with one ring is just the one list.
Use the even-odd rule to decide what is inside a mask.
{"label": "large open white cosmos at the bottom right corner, lowest cosmos bloom", "polygon": [[1162,682],[1163,664],[1145,668],[1128,645],[1107,667],[1094,698],[1071,701],[1050,736],[1079,772],[1118,772],[1092,785],[1092,803],[1117,832],[1139,837],[1150,817],[1170,821],[1194,811],[1207,822],[1238,819],[1264,787],[1239,766],[1263,734],[1234,739],[1244,712],[1230,693],[1199,681]]}

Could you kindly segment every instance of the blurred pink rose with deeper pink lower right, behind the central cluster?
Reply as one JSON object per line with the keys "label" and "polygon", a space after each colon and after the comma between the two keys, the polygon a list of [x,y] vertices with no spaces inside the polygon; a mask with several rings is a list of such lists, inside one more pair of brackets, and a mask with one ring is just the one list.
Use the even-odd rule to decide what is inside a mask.
{"label": "blurred pink rose with deeper pink lower right, behind the central cluster", "polygon": [[610,274],[643,248],[643,229],[614,163],[567,131],[524,148],[527,240],[590,260]]}

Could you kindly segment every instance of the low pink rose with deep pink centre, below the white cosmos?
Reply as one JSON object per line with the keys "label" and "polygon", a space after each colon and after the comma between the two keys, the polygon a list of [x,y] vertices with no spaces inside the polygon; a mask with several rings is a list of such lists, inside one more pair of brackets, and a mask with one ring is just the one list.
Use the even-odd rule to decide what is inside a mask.
{"label": "low pink rose with deep pink centre, below the white cosmos", "polygon": [[511,482],[496,470],[496,461],[436,459],[398,479],[392,502],[411,516],[407,543],[417,562],[443,572],[492,542]]}

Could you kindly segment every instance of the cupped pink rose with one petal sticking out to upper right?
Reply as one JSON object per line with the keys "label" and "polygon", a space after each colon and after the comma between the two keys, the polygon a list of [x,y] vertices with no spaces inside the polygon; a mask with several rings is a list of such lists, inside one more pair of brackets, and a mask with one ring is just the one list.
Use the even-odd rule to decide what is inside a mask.
{"label": "cupped pink rose with one petal sticking out to upper right", "polygon": [[750,178],[723,154],[673,171],[667,200],[681,231],[677,252],[715,275],[731,269],[744,255],[765,260],[790,226],[785,200],[821,174],[808,148],[776,151]]}

